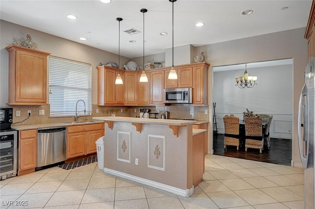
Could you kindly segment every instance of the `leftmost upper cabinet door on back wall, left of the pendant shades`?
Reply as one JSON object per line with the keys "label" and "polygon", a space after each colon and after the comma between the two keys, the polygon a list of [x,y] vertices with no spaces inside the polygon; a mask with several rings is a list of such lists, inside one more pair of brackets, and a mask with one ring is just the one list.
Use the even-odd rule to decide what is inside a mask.
{"label": "leftmost upper cabinet door on back wall, left of the pendant shades", "polygon": [[116,70],[105,69],[105,104],[115,104],[115,80]]}

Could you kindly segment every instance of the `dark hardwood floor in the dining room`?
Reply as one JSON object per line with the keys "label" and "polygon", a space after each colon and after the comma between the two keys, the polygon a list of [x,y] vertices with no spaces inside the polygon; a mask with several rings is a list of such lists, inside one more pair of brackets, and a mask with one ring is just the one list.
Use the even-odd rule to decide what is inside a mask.
{"label": "dark hardwood floor in the dining room", "polygon": [[259,149],[250,148],[246,152],[245,146],[240,147],[239,150],[236,150],[236,146],[227,146],[227,149],[224,150],[223,141],[224,134],[213,135],[214,154],[280,165],[291,165],[292,140],[271,138],[270,149],[264,147],[262,153],[259,153]]}

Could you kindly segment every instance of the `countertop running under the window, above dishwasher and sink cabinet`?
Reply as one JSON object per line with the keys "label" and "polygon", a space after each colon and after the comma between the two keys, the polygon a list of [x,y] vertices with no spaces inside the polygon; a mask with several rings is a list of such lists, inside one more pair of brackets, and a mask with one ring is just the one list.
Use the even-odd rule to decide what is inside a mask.
{"label": "countertop running under the window, above dishwasher and sink cabinet", "polygon": [[36,123],[28,125],[11,125],[13,130],[28,130],[28,129],[37,129],[37,128],[57,128],[65,127],[69,125],[87,125],[94,123],[102,123],[102,120],[95,121],[79,121],[79,122],[54,122],[54,123]]}

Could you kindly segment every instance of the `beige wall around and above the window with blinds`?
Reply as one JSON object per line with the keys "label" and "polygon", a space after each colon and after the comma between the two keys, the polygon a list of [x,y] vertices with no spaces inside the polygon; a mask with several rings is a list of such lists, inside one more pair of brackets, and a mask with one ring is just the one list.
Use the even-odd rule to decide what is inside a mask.
{"label": "beige wall around and above the window with blinds", "polygon": [[[101,63],[116,62],[118,55],[90,46],[86,46],[74,41],[69,41],[54,35],[50,35],[38,30],[32,30],[23,26],[0,20],[0,106],[8,102],[8,52],[5,47],[10,45],[13,37],[26,38],[32,36],[32,41],[38,44],[38,50],[51,53],[52,56],[64,59],[81,61],[92,64],[92,104],[97,104],[97,71],[96,66]],[[118,46],[117,46],[118,47]],[[128,58],[121,57],[121,67],[129,61]]]}

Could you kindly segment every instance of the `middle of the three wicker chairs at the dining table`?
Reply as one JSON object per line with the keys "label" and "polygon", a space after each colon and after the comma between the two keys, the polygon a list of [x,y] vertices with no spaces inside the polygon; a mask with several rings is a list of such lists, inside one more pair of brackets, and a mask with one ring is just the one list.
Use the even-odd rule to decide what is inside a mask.
{"label": "middle of the three wicker chairs at the dining table", "polygon": [[254,148],[261,153],[264,143],[261,118],[245,118],[245,133],[245,151],[247,148]]}

